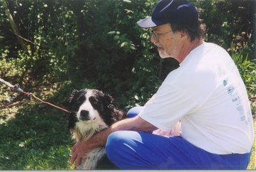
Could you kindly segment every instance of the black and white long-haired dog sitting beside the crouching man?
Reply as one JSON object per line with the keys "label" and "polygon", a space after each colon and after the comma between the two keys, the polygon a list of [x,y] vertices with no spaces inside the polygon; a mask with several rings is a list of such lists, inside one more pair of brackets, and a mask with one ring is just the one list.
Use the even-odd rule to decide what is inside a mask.
{"label": "black and white long-haired dog sitting beside the crouching man", "polygon": [[[125,117],[122,111],[116,110],[113,97],[100,90],[74,90],[68,97],[67,104],[72,111],[68,127],[72,138],[86,141],[93,134]],[[106,158],[105,148],[94,148],[86,154],[77,169],[104,169],[115,167]]]}

